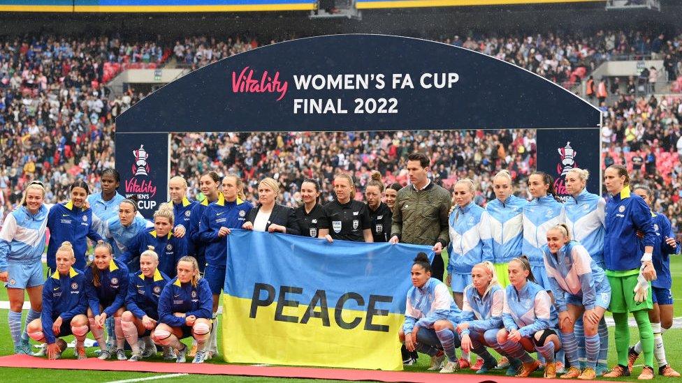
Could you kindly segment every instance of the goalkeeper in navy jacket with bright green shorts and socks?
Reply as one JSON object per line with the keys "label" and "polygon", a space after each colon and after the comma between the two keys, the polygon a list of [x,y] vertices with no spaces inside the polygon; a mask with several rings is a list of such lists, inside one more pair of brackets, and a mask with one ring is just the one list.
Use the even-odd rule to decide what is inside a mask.
{"label": "goalkeeper in navy jacket with bright green shorts and socks", "polygon": [[[618,354],[618,364],[604,377],[630,376],[630,368],[627,368],[627,350],[630,347],[627,313],[632,313],[644,352],[644,369],[638,379],[650,380],[653,379],[653,331],[648,310],[653,308],[650,287],[651,280],[656,278],[652,263],[656,232],[651,209],[639,195],[630,192],[630,176],[623,165],[607,167],[604,186],[611,195],[604,213],[604,271],[611,285],[609,311],[614,315],[616,324]],[[637,232],[641,232],[641,239]],[[641,246],[644,246],[644,254]]]}

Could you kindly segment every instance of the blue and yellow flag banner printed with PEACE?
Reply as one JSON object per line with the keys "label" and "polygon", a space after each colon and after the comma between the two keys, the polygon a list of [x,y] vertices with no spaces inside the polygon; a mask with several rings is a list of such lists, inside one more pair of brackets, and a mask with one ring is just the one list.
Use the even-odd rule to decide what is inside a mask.
{"label": "blue and yellow flag banner printed with PEACE", "polygon": [[233,230],[223,295],[226,361],[402,370],[398,330],[421,251],[432,253],[428,246]]}

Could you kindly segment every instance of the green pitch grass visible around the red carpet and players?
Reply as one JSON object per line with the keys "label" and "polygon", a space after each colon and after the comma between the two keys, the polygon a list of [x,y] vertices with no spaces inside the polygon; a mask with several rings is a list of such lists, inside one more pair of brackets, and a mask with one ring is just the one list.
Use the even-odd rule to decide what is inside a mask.
{"label": "green pitch grass visible around the red carpet and players", "polygon": [[[682,299],[682,283],[678,281],[682,278],[682,257],[676,256],[671,260],[671,269],[673,274],[673,296],[676,297],[676,302]],[[0,301],[7,300],[7,292],[5,289],[0,288]],[[9,330],[7,326],[7,311],[0,310],[0,356],[12,354],[12,343],[9,336]],[[25,313],[24,313],[25,314]],[[682,305],[675,304],[674,316],[682,316]],[[219,328],[220,331],[220,328]],[[637,329],[631,329],[631,343],[635,343],[638,338]],[[613,347],[614,334],[613,331],[610,333],[611,340],[609,345],[609,366],[613,366],[616,363],[616,352]],[[667,360],[672,364],[677,370],[682,370],[682,329],[672,329],[666,331],[663,335],[665,339],[665,348],[667,354]],[[68,338],[67,341],[71,339]],[[219,333],[218,341],[221,343],[222,336]],[[185,340],[189,343],[189,340]],[[94,348],[89,348],[87,350],[88,354],[94,352]],[[219,345],[220,350],[220,345]],[[64,357],[73,357],[73,350],[67,350],[64,352]],[[161,357],[157,356],[155,359],[161,361]],[[222,358],[218,360],[208,361],[208,363],[224,363]],[[641,359],[636,363],[639,367],[635,367],[633,370],[633,376],[621,379],[618,381],[625,382],[636,382],[637,375],[641,371]],[[421,355],[419,361],[414,366],[406,366],[405,370],[415,371],[415,372],[426,372],[426,368],[429,366],[429,359],[427,356]],[[463,373],[471,373],[470,370],[466,370]],[[497,375],[501,375],[502,372],[495,372]],[[49,370],[49,369],[38,369],[38,368],[0,368],[0,376],[2,377],[2,382],[55,382],[55,381],[80,381],[80,382],[110,382],[114,380],[128,380],[128,379],[138,379],[143,377],[154,377],[158,375],[165,374],[154,374],[154,373],[126,373],[126,372],[110,372],[110,371],[78,371],[78,370]],[[540,373],[535,373],[533,376],[542,376]],[[180,377],[173,377],[172,380],[176,382],[215,382],[217,378],[211,375],[187,375]],[[220,377],[221,380],[225,382],[277,382],[277,383],[289,383],[289,382],[315,382],[315,380],[300,380],[300,379],[284,379],[284,378],[269,378],[269,377]],[[602,378],[602,380],[604,380]],[[656,375],[654,378],[655,382],[674,382],[667,378],[659,377]],[[317,380],[317,382],[333,382],[331,380]]]}

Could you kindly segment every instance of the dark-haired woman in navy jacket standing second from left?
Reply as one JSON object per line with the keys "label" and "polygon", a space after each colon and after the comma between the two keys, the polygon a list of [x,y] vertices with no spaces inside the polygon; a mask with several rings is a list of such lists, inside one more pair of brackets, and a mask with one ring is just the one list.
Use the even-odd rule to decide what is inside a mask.
{"label": "dark-haired woman in navy jacket standing second from left", "polygon": [[61,243],[70,242],[75,254],[75,269],[85,270],[85,252],[87,250],[86,237],[99,242],[104,239],[93,227],[92,209],[87,206],[87,195],[90,189],[87,183],[75,181],[69,188],[71,199],[63,204],[55,204],[48,214],[48,229],[50,241],[48,243],[48,267],[50,273],[55,271],[55,254]]}

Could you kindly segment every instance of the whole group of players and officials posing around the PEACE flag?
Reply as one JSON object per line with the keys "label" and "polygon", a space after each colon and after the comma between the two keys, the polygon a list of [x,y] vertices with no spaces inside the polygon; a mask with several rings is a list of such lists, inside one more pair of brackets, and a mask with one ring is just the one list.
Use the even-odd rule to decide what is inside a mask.
{"label": "whole group of players and officials posing around the PEACE flag", "polygon": [[[24,190],[20,206],[7,216],[0,232],[0,280],[5,281],[8,288],[8,322],[15,352],[29,352],[28,334],[31,333],[36,340],[46,341],[48,354],[55,357],[64,346],[55,340],[55,334],[63,334],[63,330],[74,333],[77,339],[79,336],[85,338],[89,329],[96,338],[101,338],[106,327],[110,345],[107,347],[105,342],[99,342],[100,357],[106,359],[116,353],[119,359],[124,359],[124,338],[136,338],[131,335],[136,332],[133,329],[138,330],[136,335],[150,335],[149,331],[161,318],[160,323],[165,327],[159,329],[157,326],[157,329],[166,332],[159,336],[156,331],[152,338],[166,347],[166,354],[170,355],[175,349],[177,359],[184,360],[182,345],[176,340],[190,334],[197,343],[198,352],[194,351],[195,347],[191,351],[191,354],[196,352],[195,361],[201,362],[205,357],[217,354],[215,324],[218,297],[224,285],[226,237],[232,229],[244,228],[317,236],[328,241],[416,243],[433,246],[437,254],[447,248],[446,282],[451,286],[452,296],[447,287],[439,285],[444,276],[442,257],[435,257],[428,267],[424,262],[415,262],[412,268],[415,288],[407,298],[402,331],[405,363],[414,361],[415,350],[426,352],[424,350],[430,349],[422,346],[433,343],[433,350],[426,352],[435,355],[433,368],[440,367],[439,350],[444,350],[447,356],[444,371],[469,365],[468,351],[477,353],[477,349],[472,348],[473,343],[467,343],[463,329],[466,321],[460,320],[467,317],[467,308],[472,307],[472,301],[483,302],[495,295],[488,289],[490,284],[479,290],[475,273],[482,270],[491,280],[498,280],[496,276],[499,276],[498,283],[507,288],[507,294],[518,295],[515,302],[518,305],[505,305],[505,313],[514,321],[493,315],[492,306],[498,307],[499,303],[492,305],[492,301],[488,302],[487,316],[485,310],[470,310],[476,320],[498,318],[501,322],[495,323],[504,324],[507,335],[502,331],[495,335],[498,348],[493,342],[488,343],[490,336],[479,340],[486,340],[486,345],[505,355],[511,365],[510,373],[518,370],[520,375],[528,375],[537,366],[535,362],[529,364],[525,356],[504,350],[502,345],[509,337],[514,344],[524,344],[523,341],[519,343],[521,338],[532,340],[525,348],[530,349],[530,345],[535,344],[540,358],[544,358],[546,376],[556,374],[554,352],[558,352],[559,371],[564,370],[564,361],[570,366],[563,377],[590,378],[606,373],[608,333],[603,313],[609,309],[616,322],[618,365],[607,376],[629,375],[634,359],[643,353],[646,366],[640,378],[653,377],[654,342],[659,373],[679,376],[665,361],[660,336],[672,322],[668,256],[677,253],[677,244],[667,218],[652,213],[648,206],[653,202],[651,190],[642,186],[631,190],[624,167],[614,165],[604,173],[604,185],[612,196],[609,202],[585,190],[588,172],[570,170],[566,174],[566,187],[573,198],[565,204],[553,197],[553,180],[549,175],[535,172],[530,176],[528,187],[533,199],[528,202],[514,196],[512,177],[509,172],[502,171],[493,178],[496,198],[488,202],[485,209],[472,202],[475,186],[468,179],[456,182],[452,195],[432,183],[428,179],[429,160],[422,153],[409,155],[407,172],[408,186],[393,184],[389,188],[381,182],[380,174],[374,174],[365,187],[367,204],[352,200],[355,186],[347,174],[336,175],[335,200],[324,206],[319,204],[319,183],[307,179],[300,187],[303,204],[297,209],[277,204],[280,186],[275,179],[261,180],[259,205],[254,207],[243,200],[243,184],[236,175],[221,179],[215,172],[203,174],[200,186],[205,198],[202,202],[190,201],[186,195],[187,182],[182,177],[174,177],[169,182],[171,202],[162,204],[154,213],[153,227],[147,227],[150,224],[137,213],[134,200],[126,200],[116,192],[119,186],[116,170],[108,169],[101,174],[101,193],[89,195],[87,184],[77,181],[71,186],[71,199],[53,206],[43,204],[43,185],[30,183]],[[384,196],[386,202],[382,202]],[[451,206],[452,202],[454,206]],[[41,255],[48,228],[50,272],[45,283]],[[558,239],[552,241],[550,234]],[[94,261],[89,266],[86,266],[86,238],[99,242]],[[152,260],[143,257],[145,251]],[[71,254],[73,262],[68,264],[71,261],[64,256],[66,260],[62,260],[60,268],[59,254],[66,253]],[[195,259],[198,262],[192,261]],[[143,260],[149,263],[146,267],[141,266]],[[521,264],[521,271],[517,270],[517,273],[526,274],[526,278],[516,277],[516,280],[524,280],[521,285],[514,284],[514,264]],[[180,272],[181,266],[185,274]],[[415,267],[421,267],[423,275],[430,278],[422,278],[419,282],[419,278],[415,278]],[[117,272],[119,276],[113,276]],[[131,283],[126,284],[128,272],[132,277]],[[199,278],[201,275],[203,278]],[[533,282],[535,278],[530,278],[531,281],[525,283],[532,275],[537,280]],[[164,310],[170,311],[162,311],[161,303],[157,310],[159,298],[166,290],[154,283],[165,281],[164,276],[175,277],[166,289],[177,287],[178,291],[182,290],[180,296],[186,298],[166,302]],[[82,284],[75,280],[70,282],[72,278],[80,278]],[[140,285],[142,282],[145,285]],[[45,289],[43,283],[48,285]],[[428,286],[440,286],[437,292],[445,289],[447,299],[441,297],[430,301],[434,294],[426,293]],[[139,289],[136,290],[138,294],[150,300],[147,304],[151,311],[145,311],[147,315],[128,307],[131,294],[135,296],[134,291],[128,291],[131,288]],[[70,293],[61,294],[60,289]],[[31,301],[27,317],[29,331],[22,331],[21,323],[24,290]],[[474,290],[479,294],[467,297],[467,292]],[[523,304],[522,293],[527,298]],[[85,303],[76,299],[79,294],[83,294]],[[544,299],[545,295],[547,299]],[[206,299],[207,296],[211,298]],[[454,303],[448,310],[445,308],[447,301]],[[210,307],[205,307],[205,302],[210,303]],[[176,303],[179,306],[174,306]],[[82,312],[75,308],[75,311],[71,310],[71,305]],[[129,311],[124,313],[124,307]],[[522,313],[520,310],[523,309]],[[460,310],[463,311],[460,313]],[[168,321],[170,323],[164,321],[162,312],[182,318],[182,324],[179,319]],[[641,342],[630,350],[628,312],[637,320],[641,335]],[[65,324],[69,322],[64,318],[66,313],[74,315],[68,318],[70,323]],[[414,319],[412,324],[411,318]],[[52,335],[41,321],[52,324]],[[546,327],[532,331],[543,323]],[[492,325],[488,330],[493,329],[497,327]],[[434,331],[433,336],[419,338],[419,334],[428,333],[426,330]],[[440,338],[441,333],[445,334],[445,339]],[[599,343],[595,354],[592,340],[597,333]],[[456,361],[454,347],[449,345],[460,340],[465,354]],[[549,346],[550,343],[553,346]],[[576,347],[573,347],[574,343]],[[144,350],[156,352],[152,344],[152,340],[147,340]],[[140,355],[140,347],[133,347],[131,358],[136,360]],[[483,371],[490,368],[491,359],[486,361],[486,357],[481,355],[472,368]]]}

